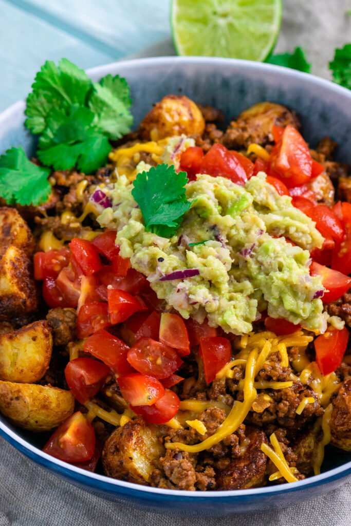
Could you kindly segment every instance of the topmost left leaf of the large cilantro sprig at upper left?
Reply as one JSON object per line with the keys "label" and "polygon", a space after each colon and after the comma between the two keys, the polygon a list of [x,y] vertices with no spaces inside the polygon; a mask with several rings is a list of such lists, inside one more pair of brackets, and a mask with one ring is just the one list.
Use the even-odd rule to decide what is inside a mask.
{"label": "topmost left leaf of the large cilantro sprig at upper left", "polygon": [[53,109],[85,105],[91,85],[84,70],[67,58],[58,63],[58,68],[52,60],[47,60],[36,74],[33,91],[27,97],[26,127],[35,134],[42,133]]}

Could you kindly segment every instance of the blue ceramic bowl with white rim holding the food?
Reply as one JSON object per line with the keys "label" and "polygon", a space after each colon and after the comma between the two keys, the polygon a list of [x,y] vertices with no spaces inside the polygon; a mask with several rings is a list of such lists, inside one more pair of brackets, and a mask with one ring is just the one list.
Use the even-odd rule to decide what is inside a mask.
{"label": "blue ceramic bowl with white rim holding the food", "polygon": [[[94,80],[111,73],[128,80],[135,125],[167,94],[185,94],[223,110],[230,118],[269,100],[295,109],[310,145],[329,135],[339,143],[338,159],[351,164],[351,92],[312,75],[268,64],[221,58],[163,57],[119,62],[89,70]],[[0,115],[0,152],[22,145],[35,150],[24,128],[24,102]],[[29,437],[0,418],[0,433],[17,449],[81,488],[149,511],[183,515],[227,515],[281,508],[336,488],[351,474],[351,453],[327,448],[324,472],[292,484],[239,491],[162,490],[114,480],[49,457]]]}

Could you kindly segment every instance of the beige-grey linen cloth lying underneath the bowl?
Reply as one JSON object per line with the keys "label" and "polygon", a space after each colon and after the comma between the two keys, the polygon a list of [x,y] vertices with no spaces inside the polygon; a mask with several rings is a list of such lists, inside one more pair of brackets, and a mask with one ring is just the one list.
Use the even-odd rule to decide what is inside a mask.
{"label": "beige-grey linen cloth lying underneath the bowl", "polygon": [[[327,63],[334,48],[351,42],[348,9],[351,0],[285,0],[276,52],[302,46],[313,63],[313,73],[329,78]],[[174,54],[171,41],[148,48],[139,56],[167,54]],[[351,482],[323,497],[282,510],[219,519],[168,517],[114,504],[77,489],[0,437],[0,526],[181,526],[186,522],[191,526],[351,526]]]}

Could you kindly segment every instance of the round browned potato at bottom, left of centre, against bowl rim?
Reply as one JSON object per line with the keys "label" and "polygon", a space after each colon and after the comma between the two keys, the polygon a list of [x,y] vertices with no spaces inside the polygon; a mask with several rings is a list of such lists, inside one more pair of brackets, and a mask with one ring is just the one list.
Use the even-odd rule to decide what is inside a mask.
{"label": "round browned potato at bottom, left of centre, against bowl rim", "polygon": [[164,453],[157,427],[136,417],[106,440],[102,454],[104,471],[108,477],[145,485]]}

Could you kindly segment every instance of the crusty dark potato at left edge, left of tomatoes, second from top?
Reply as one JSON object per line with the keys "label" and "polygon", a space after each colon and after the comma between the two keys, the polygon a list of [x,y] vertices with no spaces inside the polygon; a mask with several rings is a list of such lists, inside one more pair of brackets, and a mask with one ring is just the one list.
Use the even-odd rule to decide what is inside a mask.
{"label": "crusty dark potato at left edge, left of tomatoes, second from top", "polygon": [[32,264],[23,250],[10,245],[0,259],[0,321],[33,312],[37,307]]}

